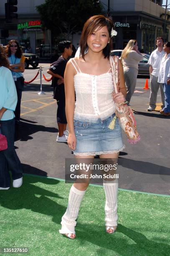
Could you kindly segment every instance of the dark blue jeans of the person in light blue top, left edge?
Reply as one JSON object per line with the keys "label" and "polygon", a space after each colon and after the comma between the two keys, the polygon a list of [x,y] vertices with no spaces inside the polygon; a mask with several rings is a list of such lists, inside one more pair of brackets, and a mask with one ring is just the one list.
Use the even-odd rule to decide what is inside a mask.
{"label": "dark blue jeans of the person in light blue top, left edge", "polygon": [[10,187],[9,171],[13,180],[23,177],[23,169],[14,148],[15,120],[0,120],[0,130],[8,142],[8,148],[0,151],[0,187]]}

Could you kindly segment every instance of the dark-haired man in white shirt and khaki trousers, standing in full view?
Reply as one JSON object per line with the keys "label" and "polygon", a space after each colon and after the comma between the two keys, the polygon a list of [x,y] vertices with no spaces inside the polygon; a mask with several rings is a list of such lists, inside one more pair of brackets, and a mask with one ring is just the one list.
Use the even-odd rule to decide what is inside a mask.
{"label": "dark-haired man in white shirt and khaki trousers, standing in full view", "polygon": [[150,55],[148,64],[150,64],[150,100],[149,100],[149,108],[147,111],[153,111],[156,108],[156,101],[157,101],[157,92],[160,87],[161,92],[161,100],[162,105],[161,108],[163,109],[165,107],[165,94],[163,91],[162,84],[158,83],[158,76],[160,72],[160,63],[162,61],[162,57],[165,54],[163,51],[163,38],[157,37],[156,39],[156,45],[157,49],[152,52]]}

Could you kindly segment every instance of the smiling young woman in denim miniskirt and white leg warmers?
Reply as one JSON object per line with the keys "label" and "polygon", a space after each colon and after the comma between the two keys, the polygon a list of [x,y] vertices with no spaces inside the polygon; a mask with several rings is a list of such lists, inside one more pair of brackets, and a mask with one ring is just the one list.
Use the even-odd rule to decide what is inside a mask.
{"label": "smiling young woman in denim miniskirt and white leg warmers", "polygon": [[[126,96],[123,68],[119,60],[120,91],[114,93],[109,62],[113,26],[112,20],[103,15],[89,18],[81,34],[80,56],[68,61],[66,66],[64,83],[69,125],[67,142],[69,148],[74,150],[78,162],[82,161],[81,158],[92,162],[96,154],[100,158],[114,161],[124,148],[118,120],[113,130],[108,128],[115,116],[115,102],[123,103]],[[88,185],[88,179],[82,183],[74,183],[67,210],[62,217],[59,232],[72,239],[76,237],[76,218]],[[113,233],[117,228],[117,189],[115,180],[104,183],[107,233]]]}

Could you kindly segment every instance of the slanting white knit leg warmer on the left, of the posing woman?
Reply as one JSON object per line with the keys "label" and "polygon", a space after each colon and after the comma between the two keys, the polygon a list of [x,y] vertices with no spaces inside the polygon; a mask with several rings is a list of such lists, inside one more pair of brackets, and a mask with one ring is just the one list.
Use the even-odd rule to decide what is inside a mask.
{"label": "slanting white knit leg warmer on the left, of the posing woman", "polygon": [[61,219],[62,227],[59,230],[61,234],[75,234],[74,228],[76,226],[76,218],[79,214],[81,200],[83,199],[85,192],[86,190],[81,191],[79,189],[76,189],[74,186],[71,187],[67,210]]}

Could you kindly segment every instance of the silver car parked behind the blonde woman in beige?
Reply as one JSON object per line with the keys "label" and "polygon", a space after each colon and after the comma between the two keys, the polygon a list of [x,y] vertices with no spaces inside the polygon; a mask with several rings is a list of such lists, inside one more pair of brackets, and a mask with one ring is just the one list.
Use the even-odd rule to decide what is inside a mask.
{"label": "silver car parked behind the blonde woman in beige", "polygon": [[[122,51],[123,50],[113,50],[111,51],[111,55],[112,56],[118,56],[120,57],[121,54],[122,54]],[[138,74],[150,74],[150,65],[147,64],[149,58],[150,58],[150,55],[149,54],[143,54],[143,60],[139,62],[138,64]]]}

